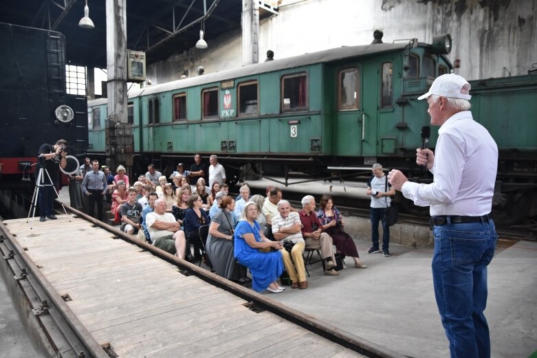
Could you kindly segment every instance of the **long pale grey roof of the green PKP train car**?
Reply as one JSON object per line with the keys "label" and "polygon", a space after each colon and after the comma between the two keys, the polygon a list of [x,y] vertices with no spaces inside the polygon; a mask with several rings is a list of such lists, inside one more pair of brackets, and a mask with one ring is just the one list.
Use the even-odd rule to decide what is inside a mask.
{"label": "long pale grey roof of the green PKP train car", "polygon": [[[430,46],[425,43],[419,43],[421,46]],[[161,93],[165,91],[171,91],[173,89],[181,89],[187,87],[193,87],[197,85],[204,85],[205,83],[219,82],[222,80],[232,80],[234,78],[253,76],[256,74],[263,74],[272,71],[278,71],[281,69],[289,69],[294,67],[300,67],[305,65],[312,65],[315,63],[328,63],[344,58],[368,56],[372,54],[382,54],[384,52],[393,52],[404,49],[409,46],[408,43],[378,43],[371,45],[338,47],[335,49],[327,49],[319,52],[312,52],[311,54],[303,54],[299,56],[281,58],[278,60],[267,61],[263,63],[255,63],[253,65],[246,65],[243,67],[237,67],[235,69],[227,69],[224,71],[217,71],[211,74],[204,74],[202,76],[195,76],[190,78],[184,78],[182,80],[175,80],[171,82],[162,83],[159,85],[153,85],[144,89],[135,89],[129,91],[129,98],[135,98],[138,96],[151,95],[153,93]]]}

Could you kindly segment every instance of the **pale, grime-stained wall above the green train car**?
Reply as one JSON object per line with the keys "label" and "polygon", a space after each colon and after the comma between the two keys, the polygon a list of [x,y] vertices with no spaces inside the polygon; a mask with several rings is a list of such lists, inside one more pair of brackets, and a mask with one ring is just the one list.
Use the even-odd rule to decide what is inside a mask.
{"label": "pale, grime-stained wall above the green train car", "polygon": [[[418,38],[430,43],[438,34],[453,38],[450,60],[469,80],[527,74],[537,63],[537,0],[281,0],[278,15],[261,19],[259,61],[267,49],[284,58],[383,41]],[[210,31],[210,29],[207,29]],[[190,49],[151,65],[154,84],[242,65],[241,30],[208,41],[207,50]],[[505,68],[505,69],[504,69]]]}

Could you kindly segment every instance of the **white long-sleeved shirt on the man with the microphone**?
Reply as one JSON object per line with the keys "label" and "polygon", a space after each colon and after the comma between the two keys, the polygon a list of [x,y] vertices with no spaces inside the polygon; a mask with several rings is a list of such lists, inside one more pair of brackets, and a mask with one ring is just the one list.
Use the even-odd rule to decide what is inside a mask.
{"label": "white long-sleeved shirt on the man with the microphone", "polygon": [[472,112],[452,115],[439,128],[435,176],[430,184],[407,181],[404,197],[416,205],[430,205],[430,215],[481,216],[492,210],[498,168],[498,146]]}

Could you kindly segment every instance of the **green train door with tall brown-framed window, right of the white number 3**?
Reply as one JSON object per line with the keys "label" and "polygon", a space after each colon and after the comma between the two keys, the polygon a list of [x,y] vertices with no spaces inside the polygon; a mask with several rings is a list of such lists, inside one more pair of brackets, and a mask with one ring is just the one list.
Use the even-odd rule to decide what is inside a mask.
{"label": "green train door with tall brown-framed window, right of the white number 3", "polygon": [[336,156],[362,155],[362,69],[340,67],[336,73],[336,115],[333,148]]}

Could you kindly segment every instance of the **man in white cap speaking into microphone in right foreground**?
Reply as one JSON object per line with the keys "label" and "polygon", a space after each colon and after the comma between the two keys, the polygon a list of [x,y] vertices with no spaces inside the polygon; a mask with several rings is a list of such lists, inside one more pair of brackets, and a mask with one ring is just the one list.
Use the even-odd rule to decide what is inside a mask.
{"label": "man in white cap speaking into microphone in right foreground", "polygon": [[494,256],[496,230],[490,219],[498,147],[475,122],[470,84],[461,76],[439,76],[427,98],[430,123],[440,126],[435,153],[417,149],[416,163],[434,175],[430,184],[412,183],[399,170],[388,181],[416,205],[430,206],[435,237],[432,280],[451,357],[490,357],[483,311],[487,265]]}

